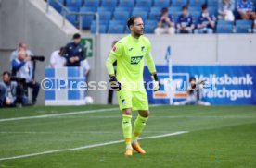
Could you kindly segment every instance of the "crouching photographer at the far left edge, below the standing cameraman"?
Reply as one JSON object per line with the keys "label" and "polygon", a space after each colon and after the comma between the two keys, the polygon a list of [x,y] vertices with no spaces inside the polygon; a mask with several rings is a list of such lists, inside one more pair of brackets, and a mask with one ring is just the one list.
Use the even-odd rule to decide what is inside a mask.
{"label": "crouching photographer at the far left edge, below the standing cameraman", "polygon": [[11,81],[11,74],[5,71],[0,82],[0,107],[13,107],[17,101],[17,82]]}

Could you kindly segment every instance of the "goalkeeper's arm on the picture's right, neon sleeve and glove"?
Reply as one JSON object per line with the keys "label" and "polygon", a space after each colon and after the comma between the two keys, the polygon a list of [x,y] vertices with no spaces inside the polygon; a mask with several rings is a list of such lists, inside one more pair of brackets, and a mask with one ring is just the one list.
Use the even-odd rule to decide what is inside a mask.
{"label": "goalkeeper's arm on the picture's right, neon sleeve and glove", "polygon": [[153,60],[152,54],[151,54],[151,44],[149,42],[148,44],[148,50],[147,50],[147,54],[146,54],[146,62],[147,62],[147,68],[151,74],[151,78],[153,79],[153,90],[157,91],[160,90],[160,82],[159,82],[159,78],[157,75],[157,70],[156,70],[156,66],[155,66],[155,62]]}

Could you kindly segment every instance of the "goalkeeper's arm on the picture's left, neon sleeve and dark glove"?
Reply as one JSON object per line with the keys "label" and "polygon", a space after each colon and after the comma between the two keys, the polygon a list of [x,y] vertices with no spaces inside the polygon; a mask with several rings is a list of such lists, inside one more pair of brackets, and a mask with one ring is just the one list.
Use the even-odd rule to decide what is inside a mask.
{"label": "goalkeeper's arm on the picture's left, neon sleeve and dark glove", "polygon": [[109,82],[110,82],[110,89],[111,90],[121,90],[122,86],[121,83],[117,80],[115,76],[115,70],[114,70],[114,62],[117,60],[118,57],[122,55],[122,43],[117,42],[116,45],[112,48],[109,57],[106,61],[107,70],[109,73]]}

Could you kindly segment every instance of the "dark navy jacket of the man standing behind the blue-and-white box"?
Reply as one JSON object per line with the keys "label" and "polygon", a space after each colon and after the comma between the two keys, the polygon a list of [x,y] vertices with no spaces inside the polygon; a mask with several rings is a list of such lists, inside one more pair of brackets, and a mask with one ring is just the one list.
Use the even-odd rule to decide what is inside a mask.
{"label": "dark navy jacket of the man standing behind the blue-and-white box", "polygon": [[[66,46],[66,52],[64,56],[67,59],[67,64],[66,66],[80,66],[80,62],[85,59],[84,56],[84,47],[82,44],[75,44],[74,42],[70,42]],[[70,63],[70,57],[79,57],[79,61],[76,61],[74,63]]]}

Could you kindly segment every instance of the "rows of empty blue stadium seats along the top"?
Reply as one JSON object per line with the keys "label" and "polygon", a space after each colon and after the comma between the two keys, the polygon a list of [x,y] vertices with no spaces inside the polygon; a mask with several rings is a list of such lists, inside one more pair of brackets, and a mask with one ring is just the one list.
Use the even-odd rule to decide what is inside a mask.
{"label": "rows of empty blue stadium seats along the top", "polygon": [[[130,32],[126,28],[126,20],[131,15],[139,15],[145,22],[145,32],[154,33],[157,27],[157,20],[160,16],[162,7],[167,7],[169,13],[173,15],[174,20],[181,14],[181,7],[189,6],[189,13],[193,16],[197,24],[200,16],[201,6],[208,5],[209,13],[218,17],[218,0],[59,0],[70,11],[74,12],[97,12],[100,18],[100,33],[127,33]],[[256,9],[256,0],[251,0]],[[54,0],[49,0],[59,13],[64,14],[61,7]],[[235,1],[235,6],[237,0]],[[255,10],[254,9],[254,10]],[[237,9],[234,10],[236,18],[239,18]],[[74,15],[66,17],[73,25],[78,25],[78,18]],[[91,33],[95,33],[96,24],[94,16],[83,16],[83,29],[89,29]],[[252,31],[252,20],[236,20],[236,24],[217,21],[216,33],[250,33]],[[114,25],[116,24],[116,25]],[[122,26],[117,26],[122,24]],[[155,25],[154,25],[155,24]],[[236,29],[234,29],[236,25]],[[125,29],[118,30],[118,28]],[[116,30],[116,31],[115,31]]]}

